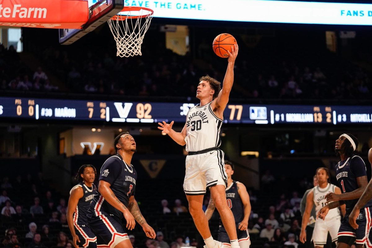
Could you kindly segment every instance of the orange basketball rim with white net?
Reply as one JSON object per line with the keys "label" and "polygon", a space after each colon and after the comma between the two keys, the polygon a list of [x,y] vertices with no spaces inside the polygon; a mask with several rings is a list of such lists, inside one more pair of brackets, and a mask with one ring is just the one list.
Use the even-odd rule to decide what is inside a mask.
{"label": "orange basketball rim with white net", "polygon": [[124,7],[107,22],[116,41],[116,56],[142,55],[141,45],[154,11],[145,7]]}

